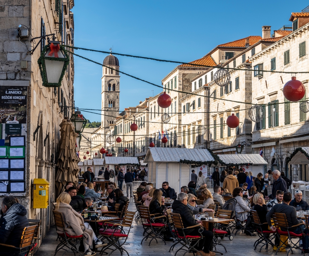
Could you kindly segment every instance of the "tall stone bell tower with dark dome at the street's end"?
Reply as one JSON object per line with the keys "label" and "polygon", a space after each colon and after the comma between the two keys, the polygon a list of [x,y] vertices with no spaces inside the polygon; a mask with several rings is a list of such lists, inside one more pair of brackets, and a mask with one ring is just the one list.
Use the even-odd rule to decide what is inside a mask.
{"label": "tall stone bell tower with dark dome at the street's end", "polygon": [[116,117],[119,116],[119,61],[110,54],[103,61],[102,80],[102,116],[101,129],[104,133],[109,130],[110,125],[116,123]]}

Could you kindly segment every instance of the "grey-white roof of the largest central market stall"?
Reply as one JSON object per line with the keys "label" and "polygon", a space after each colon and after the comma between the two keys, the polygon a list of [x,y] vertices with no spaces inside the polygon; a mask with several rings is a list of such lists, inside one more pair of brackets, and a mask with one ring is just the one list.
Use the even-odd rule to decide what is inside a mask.
{"label": "grey-white roof of the largest central market stall", "polygon": [[179,163],[180,160],[184,159],[192,160],[193,162],[214,161],[214,158],[207,149],[152,147],[147,151],[144,163],[148,163],[150,154],[155,162]]}

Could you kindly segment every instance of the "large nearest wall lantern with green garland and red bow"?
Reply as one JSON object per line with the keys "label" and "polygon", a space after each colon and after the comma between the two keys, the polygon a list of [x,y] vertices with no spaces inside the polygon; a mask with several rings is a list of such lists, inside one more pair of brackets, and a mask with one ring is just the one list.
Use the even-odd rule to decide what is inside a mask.
{"label": "large nearest wall lantern with green garland and red bow", "polygon": [[40,73],[45,87],[60,87],[61,81],[70,63],[65,47],[58,41],[50,41],[38,60]]}

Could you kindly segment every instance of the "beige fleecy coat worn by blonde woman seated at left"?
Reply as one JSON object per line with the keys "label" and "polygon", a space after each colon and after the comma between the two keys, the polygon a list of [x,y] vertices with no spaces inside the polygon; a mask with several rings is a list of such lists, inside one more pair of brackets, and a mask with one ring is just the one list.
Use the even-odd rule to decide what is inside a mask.
{"label": "beige fleecy coat worn by blonde woman seated at left", "polygon": [[[69,205],[65,203],[59,204],[59,209],[56,207],[56,211],[63,213],[64,224],[66,225],[64,231],[70,236],[81,236],[88,246],[92,245],[93,231],[87,229],[84,225],[83,217]],[[57,233],[62,233],[61,230]]]}

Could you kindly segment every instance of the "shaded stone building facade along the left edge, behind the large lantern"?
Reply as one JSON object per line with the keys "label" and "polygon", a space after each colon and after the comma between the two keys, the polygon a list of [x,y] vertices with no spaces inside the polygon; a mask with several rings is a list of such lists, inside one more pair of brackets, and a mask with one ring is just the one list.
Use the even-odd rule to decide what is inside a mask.
{"label": "shaded stone building facade along the left edge, behind the large lantern", "polygon": [[[31,39],[54,33],[56,40],[73,46],[73,6],[73,0],[0,1],[1,89],[23,88],[23,95],[27,96],[27,104],[22,111],[26,112],[26,121],[19,120],[21,135],[25,135],[25,190],[9,194],[16,196],[26,207],[29,219],[42,220],[40,234],[43,237],[53,223],[59,124],[65,116],[70,118],[74,107],[74,59],[70,54],[70,64],[61,87],[43,87],[37,60],[47,44],[47,38],[43,37],[42,41]],[[21,31],[23,36],[19,37]],[[31,54],[36,44],[39,45]],[[1,131],[4,131],[4,126],[8,126],[8,123],[2,119]],[[1,139],[5,139],[4,133]],[[50,183],[49,206],[46,209],[33,209],[32,189],[35,178],[43,178]],[[4,195],[1,194],[0,200]]]}

